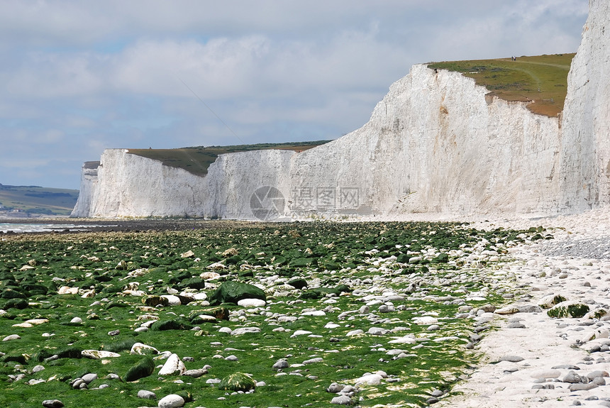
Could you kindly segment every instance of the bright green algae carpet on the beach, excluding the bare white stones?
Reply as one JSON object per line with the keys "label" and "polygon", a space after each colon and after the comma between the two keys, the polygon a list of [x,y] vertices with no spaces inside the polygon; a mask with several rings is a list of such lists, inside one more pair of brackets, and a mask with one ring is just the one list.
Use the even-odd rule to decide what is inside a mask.
{"label": "bright green algae carpet on the beach, excluding the bare white stones", "polygon": [[[295,223],[228,226],[206,231],[9,237],[0,241],[0,273],[3,274],[0,285],[16,287],[29,303],[24,309],[13,307],[8,314],[0,316],[1,333],[21,336],[19,340],[0,344],[1,353],[19,359],[0,364],[3,387],[0,403],[11,406],[28,400],[40,404],[43,399],[55,396],[72,406],[138,407],[146,402],[135,395],[138,390],[147,389],[155,390],[159,396],[190,392],[194,400],[192,406],[269,407],[288,402],[294,407],[327,407],[332,395],[326,392],[326,387],[331,382],[353,384],[364,373],[384,370],[397,381],[363,387],[357,394],[358,398],[362,397],[359,402],[362,407],[375,404],[423,406],[432,389],[450,390],[477,358],[464,347],[470,341],[472,321],[457,319],[458,304],[443,299],[463,297],[465,292],[484,292],[487,294],[485,301],[472,300],[467,304],[478,307],[488,302],[504,302],[490,282],[476,275],[481,273],[478,268],[458,267],[457,258],[450,251],[468,253],[468,248],[479,246],[501,253],[504,243],[523,242],[539,232],[477,231],[458,224],[432,223]],[[207,267],[211,263],[228,259],[222,253],[229,248],[238,248],[240,261],[225,264],[226,269],[218,271],[221,277],[216,280],[199,277],[209,271]],[[425,265],[389,262],[387,268],[381,269],[374,265],[379,258],[394,256],[398,260],[404,255],[401,259],[410,259],[414,258],[413,253],[421,255],[421,251],[430,248],[436,248],[436,253],[446,254],[446,257],[435,261],[440,256],[435,255]],[[192,250],[194,256],[181,258],[187,250]],[[200,258],[199,262],[194,261],[196,258]],[[298,259],[315,259],[316,262],[293,262]],[[35,260],[33,269],[22,271],[21,267],[30,260]],[[119,264],[121,268],[116,269]],[[259,267],[255,268],[255,264]],[[242,268],[251,270],[252,274],[244,275]],[[441,284],[450,282],[456,274],[472,275],[472,280],[463,285],[430,283],[432,278]],[[169,289],[206,292],[211,297],[223,282],[256,285],[273,275],[284,277],[284,283],[293,282],[293,288],[300,286],[304,290],[292,292],[287,288],[267,292],[267,307],[255,311],[235,304],[211,308],[197,302],[173,307],[163,302],[146,306],[143,300],[148,297],[123,293],[131,285],[156,297],[167,294]],[[345,277],[354,282],[371,280],[371,283],[345,287],[342,283]],[[401,308],[392,313],[379,314],[387,316],[388,322],[373,322],[363,317],[338,319],[340,311],[357,310],[364,304],[351,292],[370,287],[378,277],[389,278],[384,281],[384,287],[388,289],[421,297],[399,302]],[[426,278],[425,282],[410,290],[409,283],[421,278]],[[32,295],[27,293],[30,290],[23,282],[47,287],[48,291]],[[57,294],[64,286],[79,287],[81,292]],[[91,288],[95,291],[94,297],[81,297]],[[314,289],[322,296],[302,296]],[[325,303],[329,300],[333,303]],[[0,307],[6,302],[0,301]],[[331,309],[323,316],[301,314],[304,309],[326,307]],[[245,317],[243,321],[238,319],[240,313]],[[442,326],[442,336],[450,337],[448,340],[436,342],[434,339],[440,334],[429,332],[426,325],[414,324],[415,318],[429,313],[436,316]],[[134,329],[143,323],[139,318],[144,314],[155,316],[158,321],[150,331],[136,333]],[[280,314],[294,316],[296,320],[280,324],[272,317]],[[198,318],[201,315],[216,316],[217,320]],[[96,318],[86,319],[87,316]],[[76,326],[62,324],[74,317],[82,318],[83,322]],[[48,319],[48,322],[28,328],[13,326],[40,318]],[[328,329],[329,323],[338,324],[338,327]],[[199,330],[190,330],[195,325]],[[155,330],[161,326],[170,330]],[[261,331],[241,336],[219,332],[221,327],[233,330],[243,326],[259,327]],[[367,332],[373,327],[392,330],[398,326],[403,326],[404,331],[387,336]],[[284,331],[274,331],[278,328]],[[348,336],[354,329],[362,329],[364,333]],[[297,330],[311,331],[314,337],[293,336]],[[110,336],[111,331],[118,331],[118,336]],[[43,336],[45,333],[50,336]],[[431,339],[395,346],[388,343],[404,334]],[[105,379],[111,373],[125,375],[140,363],[142,356],[128,352],[128,345],[134,341],[159,351],[178,353],[181,358],[191,357],[184,361],[188,370],[204,365],[211,365],[211,369],[200,378],[188,377],[187,380],[171,375],[162,380],[148,375],[135,382]],[[384,350],[392,347],[404,349],[409,356],[392,358]],[[121,357],[108,358],[104,362],[79,358],[87,349],[113,350],[121,353]],[[214,358],[214,355],[226,357],[229,354],[238,360]],[[45,360],[53,355],[59,358]],[[301,366],[316,356],[322,360]],[[277,373],[272,365],[279,358],[287,359],[294,367]],[[33,373],[31,369],[39,363],[45,370]],[[70,380],[85,372],[99,376],[89,388],[101,384],[109,387],[72,390]],[[20,373],[25,375],[22,380],[14,381],[9,377]],[[228,395],[226,390],[206,382],[235,373],[248,373],[266,385],[257,387],[251,394]],[[45,382],[28,385],[30,380]],[[182,380],[182,383],[174,382],[176,380]]]}

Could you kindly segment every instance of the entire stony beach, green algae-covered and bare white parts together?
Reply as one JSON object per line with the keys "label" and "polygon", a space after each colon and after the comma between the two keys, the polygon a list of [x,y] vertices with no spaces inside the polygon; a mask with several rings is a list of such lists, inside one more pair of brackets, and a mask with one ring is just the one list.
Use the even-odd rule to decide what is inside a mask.
{"label": "entire stony beach, green algae-covered and bare white parts together", "polygon": [[0,237],[0,402],[610,405],[603,211],[145,222]]}

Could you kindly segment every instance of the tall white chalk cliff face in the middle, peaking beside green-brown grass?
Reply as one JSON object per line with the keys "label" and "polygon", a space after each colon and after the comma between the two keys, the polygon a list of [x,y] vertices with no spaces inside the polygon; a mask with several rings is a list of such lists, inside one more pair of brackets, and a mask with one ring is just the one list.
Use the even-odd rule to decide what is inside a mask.
{"label": "tall white chalk cliff face in the middle, peaking beside green-brown grass", "polygon": [[486,94],[416,65],[365,126],[296,155],[293,187],[355,187],[377,214],[552,211],[558,119]]}

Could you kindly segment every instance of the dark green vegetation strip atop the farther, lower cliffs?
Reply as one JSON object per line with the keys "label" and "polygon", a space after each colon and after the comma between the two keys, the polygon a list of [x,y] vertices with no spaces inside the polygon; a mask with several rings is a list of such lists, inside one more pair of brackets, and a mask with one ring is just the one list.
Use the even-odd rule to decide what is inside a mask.
{"label": "dark green vegetation strip atop the farther, lower cliffs", "polygon": [[163,165],[179,167],[192,172],[194,175],[204,176],[208,174],[208,167],[216,161],[218,155],[225,153],[248,152],[251,150],[294,150],[302,152],[328,143],[331,140],[317,140],[313,142],[291,142],[291,143],[258,143],[255,145],[232,145],[232,146],[196,146],[192,148],[179,149],[129,149],[129,153],[153,160],[159,160]]}

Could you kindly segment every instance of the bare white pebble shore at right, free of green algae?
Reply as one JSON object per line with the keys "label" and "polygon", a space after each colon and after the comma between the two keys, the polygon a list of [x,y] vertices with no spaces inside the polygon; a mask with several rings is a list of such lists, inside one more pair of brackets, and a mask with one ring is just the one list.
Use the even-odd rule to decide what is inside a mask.
{"label": "bare white pebble shore at right, free of green algae", "polygon": [[[477,228],[553,230],[551,241],[511,248],[503,272],[526,294],[489,314],[497,331],[476,350],[484,354],[453,397],[439,407],[610,407],[610,211],[536,220],[475,221]],[[551,318],[538,306],[560,295],[587,304],[580,318]],[[461,395],[456,395],[460,394]]]}

